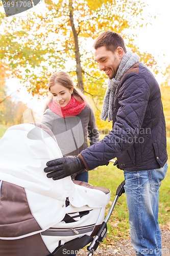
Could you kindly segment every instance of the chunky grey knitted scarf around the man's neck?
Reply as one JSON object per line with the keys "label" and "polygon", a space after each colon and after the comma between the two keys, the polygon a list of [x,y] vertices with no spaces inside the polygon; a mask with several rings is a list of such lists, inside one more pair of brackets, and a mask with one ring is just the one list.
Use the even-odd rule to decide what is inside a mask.
{"label": "chunky grey knitted scarf around the man's neck", "polygon": [[116,88],[120,82],[123,75],[137,62],[139,61],[139,56],[131,51],[127,52],[121,59],[118,66],[116,75],[112,79],[108,79],[107,90],[105,93],[103,101],[103,109],[101,113],[101,119],[108,119],[108,122],[113,120],[113,100]]}

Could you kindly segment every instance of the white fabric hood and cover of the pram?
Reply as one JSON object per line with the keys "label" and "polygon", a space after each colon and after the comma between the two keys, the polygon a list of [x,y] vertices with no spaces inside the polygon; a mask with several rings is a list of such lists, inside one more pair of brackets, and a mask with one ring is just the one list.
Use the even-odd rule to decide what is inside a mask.
{"label": "white fabric hood and cover of the pram", "polygon": [[109,202],[110,194],[74,184],[70,177],[48,179],[43,172],[46,162],[60,157],[54,138],[34,124],[11,126],[0,140],[1,186],[6,181],[25,188],[31,213],[41,227],[29,236],[62,221],[67,213],[66,198],[78,208],[105,207]]}

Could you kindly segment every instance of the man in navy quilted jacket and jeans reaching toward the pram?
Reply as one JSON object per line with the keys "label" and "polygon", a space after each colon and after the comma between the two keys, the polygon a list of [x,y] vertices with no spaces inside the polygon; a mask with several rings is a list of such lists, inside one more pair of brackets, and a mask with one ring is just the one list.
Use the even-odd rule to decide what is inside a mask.
{"label": "man in navy quilted jacket and jeans reaching toward the pram", "polygon": [[153,74],[127,52],[124,39],[105,31],[94,42],[94,60],[108,76],[102,119],[112,131],[79,156],[47,163],[48,178],[61,179],[117,157],[124,170],[131,242],[138,255],[161,255],[159,186],[167,170],[166,130],[159,85]]}

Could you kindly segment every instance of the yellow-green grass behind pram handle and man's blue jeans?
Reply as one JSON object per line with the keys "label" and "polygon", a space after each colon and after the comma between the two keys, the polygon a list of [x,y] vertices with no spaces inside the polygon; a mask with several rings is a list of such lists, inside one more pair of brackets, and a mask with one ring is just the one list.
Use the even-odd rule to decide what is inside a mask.
{"label": "yellow-green grass behind pram handle and man's blue jeans", "polygon": [[[170,138],[167,138],[167,151],[170,154]],[[168,159],[168,164],[170,161]],[[160,226],[167,226],[170,219],[170,167],[167,170],[165,179],[160,187],[160,203],[159,203],[159,223]],[[112,163],[108,166],[100,166],[97,170],[89,172],[89,183],[96,186],[107,187],[111,190],[111,202],[114,200],[118,185],[124,180],[123,170],[117,169]],[[106,207],[106,214],[110,208]],[[107,239],[104,243],[125,239],[129,237],[128,208],[126,203],[126,194],[123,194],[115,205],[112,216],[108,222]],[[170,226],[169,226],[170,228]]]}

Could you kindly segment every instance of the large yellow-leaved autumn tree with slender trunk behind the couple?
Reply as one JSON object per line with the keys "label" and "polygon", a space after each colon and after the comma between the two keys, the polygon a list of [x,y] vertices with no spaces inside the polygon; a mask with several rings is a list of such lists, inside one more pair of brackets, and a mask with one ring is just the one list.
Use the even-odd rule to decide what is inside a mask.
{"label": "large yellow-leaved autumn tree with slender trunk behind the couple", "polygon": [[93,61],[93,39],[104,30],[120,33],[126,45],[153,68],[153,56],[139,52],[132,32],[147,22],[142,18],[144,7],[141,1],[128,0],[45,0],[41,12],[28,11],[27,17],[13,17],[9,22],[2,15],[0,58],[9,63],[11,75],[18,77],[32,95],[46,95],[51,73],[66,70],[91,96],[99,109],[95,113],[98,119],[106,77]]}

